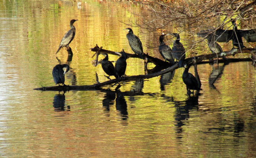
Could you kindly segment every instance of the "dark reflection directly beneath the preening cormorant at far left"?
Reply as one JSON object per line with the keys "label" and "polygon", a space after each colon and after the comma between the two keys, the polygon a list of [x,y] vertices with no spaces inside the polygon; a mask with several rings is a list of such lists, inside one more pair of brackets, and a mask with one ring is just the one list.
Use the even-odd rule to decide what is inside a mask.
{"label": "dark reflection directly beneath the preening cormorant at far left", "polygon": [[66,106],[65,95],[55,94],[53,98],[54,111],[70,111],[70,106]]}

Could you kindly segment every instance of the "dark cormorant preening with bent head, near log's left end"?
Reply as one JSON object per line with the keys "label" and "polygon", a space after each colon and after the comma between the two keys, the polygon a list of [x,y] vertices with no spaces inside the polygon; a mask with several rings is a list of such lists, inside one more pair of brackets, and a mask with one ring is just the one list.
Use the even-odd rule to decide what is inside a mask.
{"label": "dark cormorant preening with bent head, near log's left end", "polygon": [[[65,68],[65,71],[63,71],[63,68]],[[69,71],[69,65],[68,64],[58,64],[56,65],[52,70],[52,76],[53,80],[56,84],[64,84],[65,82],[65,73]]]}

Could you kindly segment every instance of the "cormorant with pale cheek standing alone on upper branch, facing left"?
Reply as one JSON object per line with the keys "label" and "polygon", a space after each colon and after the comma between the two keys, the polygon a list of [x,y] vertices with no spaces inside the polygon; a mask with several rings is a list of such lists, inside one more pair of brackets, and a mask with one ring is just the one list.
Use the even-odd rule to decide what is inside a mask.
{"label": "cormorant with pale cheek standing alone on upper branch, facing left", "polygon": [[128,34],[126,35],[129,45],[132,48],[132,51],[134,51],[135,54],[138,54],[138,56],[141,59],[144,59],[143,57],[143,48],[140,38],[138,38],[135,34],[133,34],[133,31],[131,28],[125,28],[124,30],[127,30]]}

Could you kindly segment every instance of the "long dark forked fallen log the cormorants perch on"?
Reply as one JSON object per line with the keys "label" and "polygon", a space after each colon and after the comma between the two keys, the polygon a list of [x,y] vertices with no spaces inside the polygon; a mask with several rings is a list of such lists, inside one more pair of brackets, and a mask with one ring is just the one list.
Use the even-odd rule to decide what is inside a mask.
{"label": "long dark forked fallen log the cormorants perch on", "polygon": [[[100,48],[92,48],[92,51],[98,51]],[[252,51],[255,51],[255,49],[252,48],[244,48],[242,49],[243,53],[250,53]],[[108,54],[113,54],[113,55],[117,55],[114,51],[109,51],[109,50],[104,50],[101,49],[99,50],[99,52],[102,53],[108,53]],[[224,51],[221,53],[217,53],[217,54],[203,54],[203,55],[199,55],[199,56],[195,56],[195,57],[190,57],[185,59],[184,63],[185,64],[198,64],[200,63],[202,60],[209,60],[212,58],[217,58],[217,57],[222,57],[222,56],[231,56],[237,53],[241,53],[240,50],[237,49],[233,49],[230,51]],[[128,54],[128,53],[127,53]],[[144,54],[146,56],[148,56],[148,54]],[[128,57],[138,57],[137,54],[128,54]],[[153,57],[152,57],[153,58]],[[155,58],[157,59],[157,58]],[[158,61],[160,59],[157,59],[155,61]],[[163,63],[168,63],[165,61],[162,61]],[[169,63],[168,63],[169,64]],[[152,78],[152,77],[156,77],[159,75],[163,75],[165,73],[169,73],[173,70],[176,70],[178,68],[178,63],[175,63],[173,66],[159,71],[157,73],[153,73],[153,74],[146,74],[146,75],[134,75],[134,76],[129,76],[129,77],[122,77],[121,80],[113,79],[113,80],[108,80],[105,81],[103,83],[98,83],[98,84],[93,84],[93,85],[71,85],[71,86],[52,86],[52,87],[40,87],[40,88],[35,88],[34,90],[42,90],[42,91],[69,91],[69,90],[95,90],[98,89],[104,85],[109,85],[109,84],[113,84],[113,83],[117,83],[119,81],[136,81],[136,80],[140,80],[140,79],[145,79],[145,78]]]}

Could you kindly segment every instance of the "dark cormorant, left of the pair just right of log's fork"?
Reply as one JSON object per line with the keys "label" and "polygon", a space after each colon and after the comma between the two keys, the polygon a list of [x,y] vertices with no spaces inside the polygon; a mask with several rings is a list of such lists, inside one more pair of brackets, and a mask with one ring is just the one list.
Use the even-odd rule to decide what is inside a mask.
{"label": "dark cormorant, left of the pair just right of log's fork", "polygon": [[164,36],[166,36],[166,34],[162,34],[159,37],[159,43],[160,43],[158,47],[159,52],[165,61],[168,61],[169,63],[174,64],[175,62],[174,62],[173,53],[171,51],[171,48],[164,43]]}

